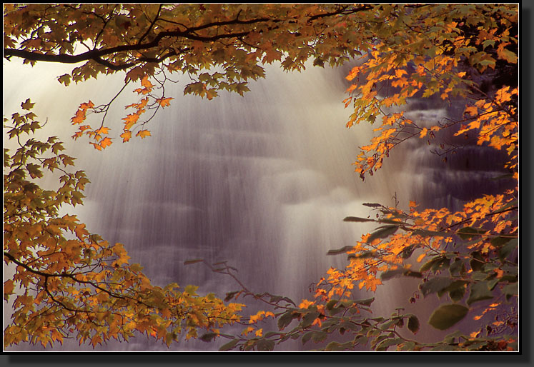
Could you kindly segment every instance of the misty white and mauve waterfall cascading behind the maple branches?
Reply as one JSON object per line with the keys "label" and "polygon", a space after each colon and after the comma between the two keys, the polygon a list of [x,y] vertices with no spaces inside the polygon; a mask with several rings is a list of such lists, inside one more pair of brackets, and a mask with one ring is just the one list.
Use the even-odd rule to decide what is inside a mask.
{"label": "misty white and mauve waterfall cascading behind the maple branches", "polygon": [[[4,111],[11,113],[12,106],[28,97],[37,102],[36,114],[49,119],[41,134],[65,141],[66,153],[78,157],[76,169],[85,170],[92,181],[84,206],[69,213],[76,213],[90,231],[107,241],[124,243],[130,262],[141,263],[155,284],[194,284],[199,291],[224,297],[238,288],[232,279],[202,264],[184,266],[183,262],[191,258],[228,261],[252,291],[289,296],[298,303],[311,297],[310,283],[330,266],[344,266],[345,258],[326,256],[328,250],[351,245],[372,230],[373,226],[342,221],[345,216],[367,216],[370,211],[362,203],[392,205],[397,193],[400,206],[406,207],[409,199],[427,200],[425,193],[430,190],[444,198],[439,199],[442,205],[458,203],[451,201],[442,178],[432,179],[450,174],[421,163],[428,162],[427,149],[422,154],[400,147],[381,171],[360,181],[351,163],[358,146],[369,140],[371,129],[345,128],[349,111],[340,101],[345,98],[343,77],[348,69],[310,67],[287,74],[277,66],[267,67],[266,79],[252,81],[244,97],[222,93],[212,101],[182,96],[183,84],[168,85],[167,96],[175,99],[147,126],[152,137],[128,144],[115,139],[99,152],[84,141],[71,141],[74,129],[69,119],[87,99],[95,104],[109,101],[122,80],[50,87],[64,68],[37,67],[30,71],[4,63]],[[6,75],[9,68],[13,72]],[[13,77],[16,71],[31,84],[20,85]],[[31,73],[36,71],[42,76],[34,78]],[[122,106],[136,99],[125,91],[115,102],[106,123],[112,133],[127,114]],[[428,118],[445,112],[420,113]],[[398,297],[407,298],[391,286],[382,288],[377,293],[377,299],[382,299],[377,304],[380,310],[397,306]],[[217,350],[218,346],[189,341],[171,350]],[[282,347],[302,348],[300,343]],[[8,350],[29,348],[20,345]],[[54,350],[80,348],[92,350],[76,342]],[[40,346],[31,349],[41,350]],[[142,337],[97,348],[105,349],[167,350]]]}

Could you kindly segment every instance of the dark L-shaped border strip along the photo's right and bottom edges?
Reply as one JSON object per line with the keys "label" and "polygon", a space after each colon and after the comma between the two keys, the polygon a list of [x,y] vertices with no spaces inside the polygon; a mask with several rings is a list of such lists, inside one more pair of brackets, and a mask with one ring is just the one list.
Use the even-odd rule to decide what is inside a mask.
{"label": "dark L-shaped border strip along the photo's right and bottom edges", "polygon": [[[527,2],[526,6],[520,4],[520,21],[521,31],[523,35],[532,34],[532,5]],[[529,36],[527,36],[529,37]],[[523,81],[521,85],[522,90],[520,96],[527,96],[528,101],[532,101],[530,89],[533,84],[532,74],[530,72],[530,65],[533,60],[530,38],[526,42],[521,42],[520,46],[527,46],[526,53],[520,52],[520,65],[526,65],[522,70],[520,69],[520,79]],[[527,136],[526,146],[520,144],[520,156],[523,158],[522,167],[527,167],[527,175],[523,176],[520,172],[520,187],[523,188],[520,196],[521,203],[525,202],[525,206],[520,206],[520,224],[523,224],[521,218],[527,218],[525,223],[532,223],[530,211],[533,207],[533,199],[530,197],[530,192],[525,191],[524,188],[532,187],[531,171],[528,169],[531,166],[532,148],[530,146],[530,138],[532,136],[532,126],[530,124],[530,103],[520,104],[520,116],[523,119],[527,118],[527,124],[520,125],[520,137]],[[520,139],[521,141],[521,139]],[[523,139],[525,141],[525,139]],[[525,164],[525,158],[527,162]],[[523,170],[525,171],[525,170]],[[524,200],[523,200],[524,199]],[[522,214],[522,215],[521,215]],[[524,227],[523,227],[524,228]],[[526,231],[521,231],[520,240],[527,246],[520,246],[521,258],[525,260],[520,261],[521,265],[521,294],[520,298],[520,351],[521,353],[399,353],[399,352],[349,352],[349,353],[330,353],[330,352],[302,352],[302,353],[284,353],[284,352],[177,352],[177,353],[116,353],[116,352],[27,352],[14,353],[2,352],[0,356],[1,366],[63,366],[69,364],[72,366],[117,366],[117,365],[157,365],[157,366],[235,366],[235,365],[267,365],[273,364],[280,366],[309,366],[309,365],[324,365],[324,366],[354,366],[354,365],[373,365],[373,366],[408,366],[413,364],[430,364],[432,366],[485,366],[499,364],[500,366],[531,366],[532,361],[532,340],[530,333],[534,330],[532,319],[528,311],[532,305],[532,288],[530,287],[529,279],[531,278],[530,264],[533,263],[532,251],[530,249],[530,241],[532,226],[527,225]],[[525,310],[527,312],[525,312]],[[417,356],[417,357],[416,357]]]}

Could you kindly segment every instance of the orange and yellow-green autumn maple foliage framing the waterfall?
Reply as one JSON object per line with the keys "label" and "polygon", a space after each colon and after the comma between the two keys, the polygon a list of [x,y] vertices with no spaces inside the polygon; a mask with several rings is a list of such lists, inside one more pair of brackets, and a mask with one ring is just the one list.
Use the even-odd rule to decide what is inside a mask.
{"label": "orange and yellow-green autumn maple foliage framing the waterfall", "polygon": [[[375,136],[355,157],[361,179],[377,173],[399,144],[435,143],[448,133],[502,151],[506,162],[495,170],[513,182],[455,212],[417,209],[412,201],[405,209],[366,203],[372,218],[345,221],[374,222],[376,230],[355,246],[328,253],[345,254],[347,264],[325,269],[311,299],[297,305],[253,293],[224,263],[212,270],[232,276],[241,288],[222,301],[197,295],[194,286],[152,286],[141,266],[128,263],[121,244],[89,233],[75,216],[58,216],[59,206],[81,204],[89,181],[82,171],[69,173],[73,159],[60,154],[54,137],[21,141],[40,126],[28,100],[22,114],[11,122],[4,118],[20,146],[14,154],[4,151],[4,261],[15,269],[4,281],[4,298],[16,297],[4,346],[46,345],[71,334],[95,346],[127,340],[135,331],[168,345],[182,331],[196,337],[204,329],[202,340],[230,339],[223,351],[270,351],[290,338],[325,351],[518,350],[517,4],[5,4],[4,57],[29,64],[84,62],[59,76],[65,86],[124,71],[117,96],[136,84],[137,101],[126,106],[119,124],[106,120],[117,96],[105,104],[81,103],[71,119],[78,129],[74,139],[85,136],[98,150],[114,139],[130,141],[132,134],[151,136],[149,121],[172,106],[164,89],[172,82],[169,74],[189,78],[184,94],[211,100],[218,91],[248,91],[249,79],[264,76],[262,64],[294,71],[308,59],[315,66],[350,61],[356,66],[346,77],[350,86],[342,102],[352,111],[346,126],[375,126]],[[413,98],[460,104],[463,116],[420,126],[405,115]],[[461,149],[457,142],[437,145],[435,153],[449,159]],[[64,173],[61,187],[41,189],[36,181],[54,169]],[[476,327],[427,343],[415,337],[423,322],[417,314],[397,308],[375,316],[374,298],[357,299],[360,290],[375,292],[402,277],[420,282],[406,295],[410,303],[440,299],[424,322],[448,330],[470,318]],[[265,310],[242,316],[243,305],[228,302],[244,296],[262,301]],[[273,329],[268,321],[274,319]],[[219,332],[237,322],[244,326],[239,335]]]}

